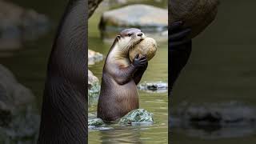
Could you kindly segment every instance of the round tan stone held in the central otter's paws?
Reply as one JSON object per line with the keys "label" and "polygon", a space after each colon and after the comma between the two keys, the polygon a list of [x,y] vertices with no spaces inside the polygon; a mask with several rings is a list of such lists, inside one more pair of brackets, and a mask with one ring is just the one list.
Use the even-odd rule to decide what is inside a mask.
{"label": "round tan stone held in the central otter's paws", "polygon": [[139,42],[134,48],[132,48],[129,52],[130,61],[133,62],[136,54],[140,56],[146,55],[148,61],[154,57],[157,51],[157,42],[155,42],[154,38],[146,37],[142,42]]}

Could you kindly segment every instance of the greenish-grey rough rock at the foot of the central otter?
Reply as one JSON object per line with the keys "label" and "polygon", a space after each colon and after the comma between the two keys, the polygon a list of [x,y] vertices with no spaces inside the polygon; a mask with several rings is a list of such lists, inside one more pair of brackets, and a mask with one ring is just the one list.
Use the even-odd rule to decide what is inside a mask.
{"label": "greenish-grey rough rock at the foot of the central otter", "polygon": [[124,117],[122,117],[119,121],[119,124],[132,124],[132,123],[152,123],[153,114],[144,110],[144,109],[137,109],[132,110]]}

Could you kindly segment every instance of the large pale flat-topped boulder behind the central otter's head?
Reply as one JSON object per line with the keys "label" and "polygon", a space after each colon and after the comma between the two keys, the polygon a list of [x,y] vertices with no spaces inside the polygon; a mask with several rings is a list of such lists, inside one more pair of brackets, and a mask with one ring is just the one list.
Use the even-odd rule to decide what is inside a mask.
{"label": "large pale flat-topped boulder behind the central otter's head", "polygon": [[142,4],[124,6],[102,14],[102,30],[137,27],[146,31],[162,31],[168,27],[168,10]]}

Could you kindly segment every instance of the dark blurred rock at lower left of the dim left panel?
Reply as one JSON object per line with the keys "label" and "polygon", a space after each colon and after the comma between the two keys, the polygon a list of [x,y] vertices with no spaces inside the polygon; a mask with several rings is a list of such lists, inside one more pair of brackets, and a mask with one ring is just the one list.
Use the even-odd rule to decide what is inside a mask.
{"label": "dark blurred rock at lower left of the dim left panel", "polygon": [[36,143],[40,117],[34,94],[0,64],[0,143]]}

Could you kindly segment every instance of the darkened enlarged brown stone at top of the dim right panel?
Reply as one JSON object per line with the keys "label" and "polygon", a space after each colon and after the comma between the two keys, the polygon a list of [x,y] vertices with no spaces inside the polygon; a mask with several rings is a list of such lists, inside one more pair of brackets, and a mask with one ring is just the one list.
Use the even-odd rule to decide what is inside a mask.
{"label": "darkened enlarged brown stone at top of the dim right panel", "polygon": [[218,0],[170,0],[169,23],[182,21],[191,28],[194,38],[214,21],[218,12]]}

